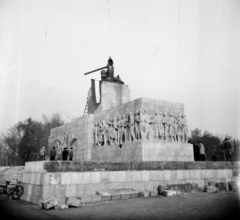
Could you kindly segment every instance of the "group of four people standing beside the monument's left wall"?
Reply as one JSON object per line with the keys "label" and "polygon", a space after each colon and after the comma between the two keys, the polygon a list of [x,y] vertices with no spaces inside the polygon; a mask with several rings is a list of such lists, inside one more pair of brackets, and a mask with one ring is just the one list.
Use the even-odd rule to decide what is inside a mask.
{"label": "group of four people standing beside the monument's left wall", "polygon": [[[50,151],[50,161],[55,161],[57,156],[57,151],[55,147],[53,147]],[[73,148],[71,147],[70,150],[65,147],[62,151],[62,160],[73,160]],[[40,160],[46,160],[46,149],[42,147],[40,150]]]}

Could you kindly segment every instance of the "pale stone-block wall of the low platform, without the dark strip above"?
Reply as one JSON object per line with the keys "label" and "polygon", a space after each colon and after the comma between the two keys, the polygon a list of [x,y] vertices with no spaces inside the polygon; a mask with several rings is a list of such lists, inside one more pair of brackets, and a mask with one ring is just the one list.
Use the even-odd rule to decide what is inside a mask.
{"label": "pale stone-block wall of the low platform, without the dark strip above", "polygon": [[[156,169],[156,163],[148,162],[148,165],[149,163],[152,164],[152,168],[155,167]],[[46,164],[49,165],[50,163],[38,162],[34,164],[34,162],[30,162],[26,164],[25,173],[22,175],[24,183],[23,200],[36,204],[39,201],[52,198],[64,201],[66,197],[95,195],[97,191],[121,188],[133,188],[137,191],[156,191],[159,185],[166,184],[197,183],[199,187],[203,187],[210,181],[229,182],[236,180],[233,168],[237,167],[239,169],[239,164],[236,163],[218,162],[218,167],[226,165],[226,168],[219,169],[217,163],[211,164],[210,162],[207,165],[204,165],[204,163],[195,164],[194,162],[175,162],[175,166],[172,166],[172,162],[165,162],[162,163],[162,166],[158,164],[158,168],[178,167],[179,169],[47,172],[44,169],[44,167],[47,167]],[[69,165],[70,163],[66,164]],[[117,164],[115,163],[115,166]],[[145,164],[147,165],[147,163]],[[77,164],[75,163],[75,165]],[[202,166],[202,168],[192,169],[198,165]],[[62,164],[59,164],[58,167],[62,167]],[[204,167],[208,167],[208,169],[204,169]],[[33,172],[34,170],[37,172]]]}

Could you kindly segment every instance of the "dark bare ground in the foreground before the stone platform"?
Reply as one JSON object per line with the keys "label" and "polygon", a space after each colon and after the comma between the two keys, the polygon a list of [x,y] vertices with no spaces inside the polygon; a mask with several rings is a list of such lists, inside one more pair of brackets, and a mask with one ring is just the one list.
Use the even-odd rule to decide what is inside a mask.
{"label": "dark bare ground in the foreground before the stone platform", "polygon": [[[199,193],[175,197],[100,202],[65,210],[43,210],[21,200],[0,198],[0,219],[240,219],[238,193]],[[4,216],[4,217],[3,217]]]}

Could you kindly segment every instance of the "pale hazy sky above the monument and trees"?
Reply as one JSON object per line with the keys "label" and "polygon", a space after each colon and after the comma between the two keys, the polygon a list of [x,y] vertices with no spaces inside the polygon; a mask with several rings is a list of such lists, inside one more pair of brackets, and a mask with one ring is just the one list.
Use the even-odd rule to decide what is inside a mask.
{"label": "pale hazy sky above the monument and trees", "polygon": [[185,105],[189,130],[240,138],[239,0],[0,0],[0,132],[82,116],[108,57],[144,97]]}

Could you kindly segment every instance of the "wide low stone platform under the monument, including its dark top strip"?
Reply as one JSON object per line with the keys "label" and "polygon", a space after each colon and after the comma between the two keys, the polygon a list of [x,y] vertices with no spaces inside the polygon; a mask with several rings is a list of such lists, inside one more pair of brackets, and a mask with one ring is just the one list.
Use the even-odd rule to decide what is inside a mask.
{"label": "wide low stone platform under the monument, including its dark top strip", "polygon": [[[95,171],[96,170],[96,171]],[[100,171],[101,170],[101,171]],[[239,163],[232,162],[27,162],[21,182],[22,200],[39,204],[67,198],[95,201],[98,192],[134,189],[157,192],[159,186],[238,181]],[[83,200],[84,199],[84,200]],[[101,201],[106,198],[102,196]],[[84,203],[84,202],[83,202]]]}

